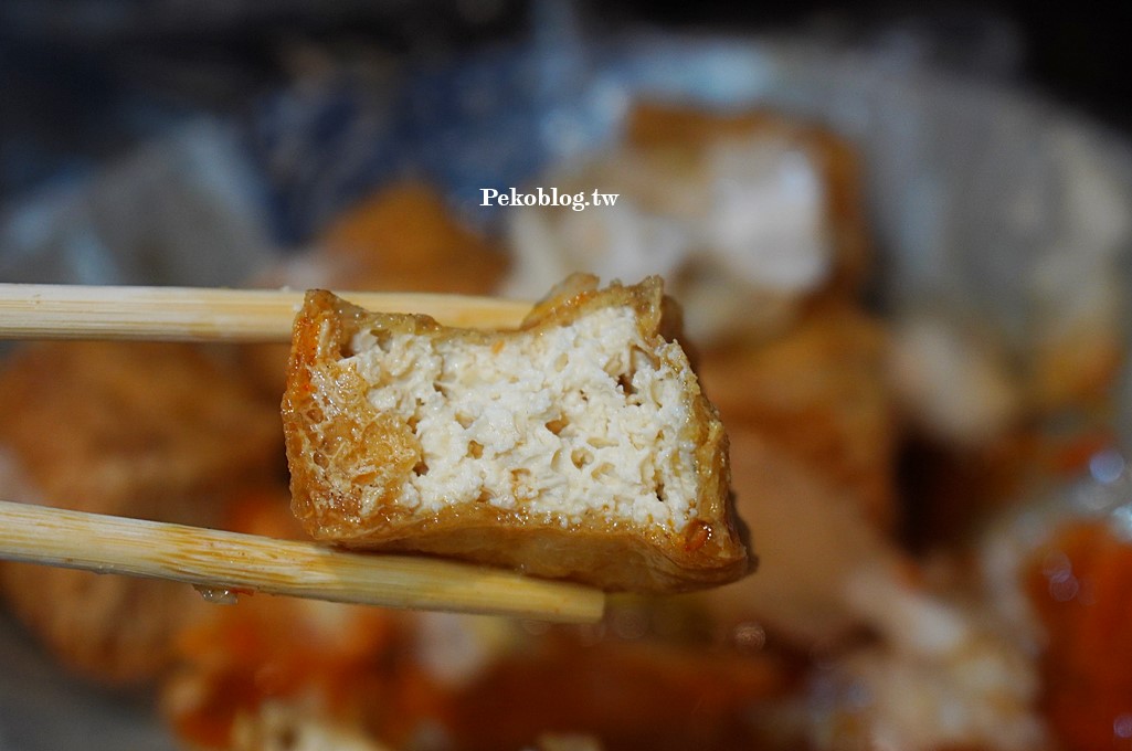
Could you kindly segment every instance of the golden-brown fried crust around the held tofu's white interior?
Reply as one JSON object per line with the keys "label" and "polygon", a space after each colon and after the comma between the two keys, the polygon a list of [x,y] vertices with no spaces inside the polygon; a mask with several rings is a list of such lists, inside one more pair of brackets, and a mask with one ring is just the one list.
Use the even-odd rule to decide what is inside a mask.
{"label": "golden-brown fried crust around the held tofu's white interior", "polygon": [[[696,446],[697,515],[680,532],[629,520],[612,524],[593,514],[566,528],[529,514],[522,504],[504,510],[463,503],[418,513],[396,503],[421,449],[409,425],[369,404],[369,384],[343,364],[355,332],[369,327],[491,344],[539,336],[611,306],[631,307],[645,341],[663,343],[659,279],[598,290],[593,278],[572,278],[515,332],[455,330],[427,316],[371,314],[329,292],[309,292],[295,322],[283,400],[295,515],[317,539],[350,547],[449,555],[611,590],[677,591],[743,575],[748,562],[728,496],[727,436],[686,365],[693,418],[680,426],[679,438]],[[370,469],[359,473],[362,466]],[[381,495],[375,509],[363,511],[367,485],[381,488]]]}

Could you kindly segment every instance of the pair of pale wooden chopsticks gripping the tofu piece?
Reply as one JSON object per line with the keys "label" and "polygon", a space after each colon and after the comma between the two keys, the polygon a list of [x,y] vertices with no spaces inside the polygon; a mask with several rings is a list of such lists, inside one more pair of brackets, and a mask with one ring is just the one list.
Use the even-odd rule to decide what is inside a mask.
{"label": "pair of pale wooden chopsticks gripping the tofu piece", "polygon": [[[284,342],[302,292],[0,284],[0,339]],[[343,292],[371,310],[511,327],[530,304],[452,295]],[[571,623],[604,595],[568,582],[426,557],[359,554],[163,522],[0,501],[0,560],[169,579],[206,592],[268,592],[384,607]]]}

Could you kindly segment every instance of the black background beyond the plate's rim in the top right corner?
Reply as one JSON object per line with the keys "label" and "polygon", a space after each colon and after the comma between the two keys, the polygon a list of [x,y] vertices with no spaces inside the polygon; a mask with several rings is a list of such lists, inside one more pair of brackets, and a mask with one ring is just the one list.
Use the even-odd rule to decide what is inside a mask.
{"label": "black background beyond the plate's rim in the top right corner", "polygon": [[[614,5],[624,17],[671,27],[824,29],[842,41],[859,43],[894,32],[918,33],[936,40],[942,65],[974,75],[1009,74],[1108,123],[1132,129],[1130,3],[707,0],[659,7],[648,2]],[[996,44],[997,58],[987,49]],[[1002,49],[1007,45],[1010,49]],[[972,49],[984,57],[964,58]],[[987,62],[1013,68],[979,68]]]}

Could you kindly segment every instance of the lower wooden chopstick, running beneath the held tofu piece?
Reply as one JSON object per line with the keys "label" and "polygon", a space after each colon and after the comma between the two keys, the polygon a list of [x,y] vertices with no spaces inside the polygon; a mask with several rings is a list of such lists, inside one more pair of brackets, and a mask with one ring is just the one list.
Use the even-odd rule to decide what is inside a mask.
{"label": "lower wooden chopstick, running beneath the held tofu piece", "polygon": [[486,566],[346,553],[183,524],[0,501],[0,560],[169,579],[206,592],[591,623],[604,595]]}

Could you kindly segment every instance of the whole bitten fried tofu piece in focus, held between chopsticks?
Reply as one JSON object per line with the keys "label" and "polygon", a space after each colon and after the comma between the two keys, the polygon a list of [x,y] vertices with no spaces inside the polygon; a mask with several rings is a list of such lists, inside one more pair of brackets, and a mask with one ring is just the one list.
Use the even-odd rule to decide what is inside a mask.
{"label": "whole bitten fried tofu piece in focus, held between chopsticks", "polygon": [[295,515],[345,547],[608,590],[741,577],[727,435],[675,317],[659,278],[576,274],[494,332],[308,292],[283,398]]}

